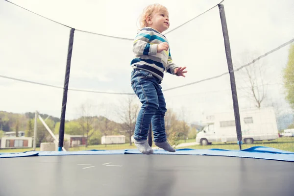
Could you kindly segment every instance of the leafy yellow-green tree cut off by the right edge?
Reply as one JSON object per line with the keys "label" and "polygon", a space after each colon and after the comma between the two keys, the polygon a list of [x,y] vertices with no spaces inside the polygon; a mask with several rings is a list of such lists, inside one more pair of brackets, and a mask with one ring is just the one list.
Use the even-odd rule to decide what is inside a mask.
{"label": "leafy yellow-green tree cut off by the right edge", "polygon": [[288,63],[284,72],[284,86],[286,89],[286,100],[294,109],[294,44],[291,44],[288,55]]}

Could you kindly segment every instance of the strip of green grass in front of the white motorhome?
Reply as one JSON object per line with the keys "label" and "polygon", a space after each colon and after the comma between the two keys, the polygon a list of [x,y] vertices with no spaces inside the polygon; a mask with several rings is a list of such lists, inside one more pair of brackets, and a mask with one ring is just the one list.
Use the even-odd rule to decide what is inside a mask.
{"label": "strip of green grass in front of the white motorhome", "polygon": [[[294,152],[294,137],[289,138],[278,138],[272,141],[263,141],[263,142],[254,142],[253,144],[243,144],[242,149],[255,147],[255,146],[263,146],[263,147],[273,147],[281,150]],[[210,148],[221,148],[221,149],[235,149],[238,150],[239,145],[237,143],[212,143],[212,145],[207,146],[189,146],[189,147],[181,147],[181,148],[193,148],[193,149],[210,149]]]}

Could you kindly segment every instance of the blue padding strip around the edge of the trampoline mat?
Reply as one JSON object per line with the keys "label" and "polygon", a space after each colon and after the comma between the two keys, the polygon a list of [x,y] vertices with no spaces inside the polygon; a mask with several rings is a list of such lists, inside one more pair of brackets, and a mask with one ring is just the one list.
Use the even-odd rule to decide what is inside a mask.
{"label": "blue padding strip around the edge of the trampoline mat", "polygon": [[[138,149],[124,150],[82,150],[82,151],[31,151],[23,153],[0,153],[0,158],[20,156],[57,156],[57,155],[99,155],[99,154],[142,154]],[[177,149],[176,152],[168,152],[162,149],[154,149],[154,154],[181,154],[181,155],[209,155],[257,158],[278,161],[294,162],[294,152],[284,151],[272,147],[250,147],[243,150],[226,149]]]}

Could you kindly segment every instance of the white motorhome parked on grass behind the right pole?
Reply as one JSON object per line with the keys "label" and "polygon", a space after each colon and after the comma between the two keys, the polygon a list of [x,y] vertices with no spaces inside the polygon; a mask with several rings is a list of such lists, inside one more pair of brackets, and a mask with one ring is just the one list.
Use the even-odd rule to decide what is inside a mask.
{"label": "white motorhome parked on grass behind the right pole", "polygon": [[[276,117],[271,107],[240,110],[242,139],[245,144],[254,141],[275,140],[279,137]],[[206,116],[204,129],[196,135],[196,143],[237,142],[234,111]]]}

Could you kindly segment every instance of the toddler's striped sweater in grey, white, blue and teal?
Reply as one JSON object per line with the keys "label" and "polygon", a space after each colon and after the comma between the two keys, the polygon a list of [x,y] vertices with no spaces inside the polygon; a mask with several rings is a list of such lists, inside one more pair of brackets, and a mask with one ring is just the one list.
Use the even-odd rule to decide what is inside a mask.
{"label": "toddler's striped sweater in grey, white, blue and teal", "polygon": [[160,43],[168,42],[167,38],[151,27],[141,29],[135,37],[133,44],[134,58],[131,67],[150,72],[161,81],[165,72],[174,74],[173,70],[178,68],[172,63],[172,56],[169,50],[157,53],[157,46]]}

